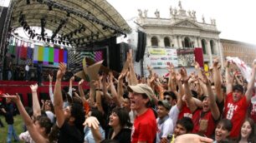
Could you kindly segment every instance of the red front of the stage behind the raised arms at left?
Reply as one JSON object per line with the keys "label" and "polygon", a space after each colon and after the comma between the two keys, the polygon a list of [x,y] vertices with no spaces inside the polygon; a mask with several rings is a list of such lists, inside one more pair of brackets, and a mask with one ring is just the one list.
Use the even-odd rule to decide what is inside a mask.
{"label": "red front of the stage behind the raised arms at left", "polygon": [[[23,106],[32,106],[32,95],[30,85],[37,83],[37,81],[0,81],[0,92],[8,93],[10,95],[18,93],[21,96]],[[54,90],[53,82],[53,90]],[[62,81],[62,87],[69,86],[69,81]],[[78,82],[73,82],[73,87],[78,86]],[[84,81],[84,89],[89,89],[88,82]],[[38,86],[38,100],[49,99],[49,81],[43,81],[43,86]]]}

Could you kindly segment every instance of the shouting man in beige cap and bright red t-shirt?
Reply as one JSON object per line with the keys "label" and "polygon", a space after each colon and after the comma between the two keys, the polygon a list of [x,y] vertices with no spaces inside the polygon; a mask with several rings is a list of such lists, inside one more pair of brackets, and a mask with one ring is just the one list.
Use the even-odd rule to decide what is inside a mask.
{"label": "shouting man in beige cap and bright red t-shirt", "polygon": [[154,92],[146,84],[128,86],[131,109],[136,111],[136,119],[131,131],[131,142],[153,143],[156,138],[156,117],[150,105]]}

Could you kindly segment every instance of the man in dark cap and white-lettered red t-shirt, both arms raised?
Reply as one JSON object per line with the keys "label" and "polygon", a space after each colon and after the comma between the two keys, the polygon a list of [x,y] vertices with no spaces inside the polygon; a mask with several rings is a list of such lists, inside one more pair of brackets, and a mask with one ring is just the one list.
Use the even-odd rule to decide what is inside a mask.
{"label": "man in dark cap and white-lettered red t-shirt, both arms raised", "polygon": [[223,117],[233,123],[231,138],[238,138],[241,126],[246,117],[248,105],[253,95],[253,84],[255,81],[256,63],[253,63],[252,76],[248,83],[248,89],[243,96],[243,86],[233,86],[233,80],[229,75],[229,64],[226,66],[227,97],[223,111]]}

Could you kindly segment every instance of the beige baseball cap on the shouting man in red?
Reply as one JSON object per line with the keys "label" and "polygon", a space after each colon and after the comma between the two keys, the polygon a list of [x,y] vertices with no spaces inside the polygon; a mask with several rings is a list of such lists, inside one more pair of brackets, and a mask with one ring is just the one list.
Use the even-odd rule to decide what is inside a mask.
{"label": "beige baseball cap on the shouting man in red", "polygon": [[146,96],[152,101],[152,98],[154,96],[154,91],[152,91],[150,86],[147,86],[146,84],[137,84],[136,86],[128,86],[128,91],[136,92],[136,93],[145,93]]}

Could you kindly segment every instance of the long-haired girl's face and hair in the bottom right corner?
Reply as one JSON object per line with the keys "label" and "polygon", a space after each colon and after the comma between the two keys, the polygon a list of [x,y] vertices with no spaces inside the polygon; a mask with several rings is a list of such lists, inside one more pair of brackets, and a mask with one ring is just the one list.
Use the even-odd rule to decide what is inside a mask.
{"label": "long-haired girl's face and hair in the bottom right corner", "polygon": [[238,143],[255,143],[254,133],[254,122],[251,118],[245,119],[241,127],[241,132],[238,137]]}

